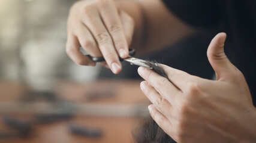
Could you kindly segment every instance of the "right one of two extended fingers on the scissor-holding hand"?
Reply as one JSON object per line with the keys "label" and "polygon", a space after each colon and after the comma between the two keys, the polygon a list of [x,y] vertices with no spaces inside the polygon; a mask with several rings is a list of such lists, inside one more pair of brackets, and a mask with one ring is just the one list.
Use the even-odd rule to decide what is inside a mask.
{"label": "right one of two extended fingers on the scissor-holding hand", "polygon": [[99,10],[101,18],[113,39],[116,51],[118,51],[121,58],[126,58],[129,53],[128,43],[119,17],[118,8],[116,8],[113,1],[105,0],[100,2]]}

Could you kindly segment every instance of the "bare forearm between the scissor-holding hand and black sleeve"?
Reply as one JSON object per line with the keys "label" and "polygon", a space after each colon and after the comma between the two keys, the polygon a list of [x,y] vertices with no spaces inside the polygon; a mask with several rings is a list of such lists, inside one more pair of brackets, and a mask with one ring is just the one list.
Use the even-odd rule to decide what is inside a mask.
{"label": "bare forearm between the scissor-holding hand and black sleeve", "polygon": [[119,7],[135,21],[132,46],[155,51],[191,35],[195,30],[175,17],[161,0],[118,0]]}

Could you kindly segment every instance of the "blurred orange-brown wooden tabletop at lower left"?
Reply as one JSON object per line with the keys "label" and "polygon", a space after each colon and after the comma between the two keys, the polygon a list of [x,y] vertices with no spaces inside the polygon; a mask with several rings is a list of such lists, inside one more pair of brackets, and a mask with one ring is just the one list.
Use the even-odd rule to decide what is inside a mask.
{"label": "blurred orange-brown wooden tabletop at lower left", "polygon": [[[94,110],[89,111],[89,107],[85,107],[85,110],[88,111],[83,112],[84,108],[82,108],[70,121],[86,127],[101,129],[103,136],[100,138],[73,135],[67,128],[68,122],[70,121],[64,120],[46,125],[36,125],[29,138],[5,139],[0,140],[0,142],[132,142],[131,130],[135,128],[136,120],[140,117],[135,117],[135,114],[132,114],[133,112],[128,110],[129,108],[122,110],[122,107],[136,107],[136,105],[144,105],[149,102],[140,91],[139,84],[140,81],[138,80],[101,80],[85,84],[59,82],[52,89],[59,97],[72,104],[89,105],[89,107],[96,106],[94,109],[95,112]],[[104,91],[105,89],[111,89],[115,93],[115,96],[96,100],[88,100],[86,98],[88,92]],[[31,89],[28,86],[20,83],[0,82],[0,101],[2,103],[14,104],[20,99],[19,96],[22,92],[29,90]],[[32,104],[34,105],[35,103]],[[112,108],[114,108],[115,114],[108,111],[108,109]],[[22,108],[17,110],[12,107],[8,109],[1,107],[1,114],[7,114],[9,112],[9,114],[20,118],[33,116],[35,111],[37,110],[32,110],[31,112],[27,109],[22,110]],[[7,130],[8,127],[1,122],[0,129]]]}

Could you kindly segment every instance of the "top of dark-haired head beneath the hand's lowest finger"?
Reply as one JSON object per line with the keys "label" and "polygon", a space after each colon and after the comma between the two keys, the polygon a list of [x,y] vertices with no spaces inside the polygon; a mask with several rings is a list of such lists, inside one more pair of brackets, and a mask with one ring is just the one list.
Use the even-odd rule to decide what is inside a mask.
{"label": "top of dark-haired head beneath the hand's lowest finger", "polygon": [[175,142],[162,130],[152,117],[147,116],[132,132],[135,143],[167,143]]}

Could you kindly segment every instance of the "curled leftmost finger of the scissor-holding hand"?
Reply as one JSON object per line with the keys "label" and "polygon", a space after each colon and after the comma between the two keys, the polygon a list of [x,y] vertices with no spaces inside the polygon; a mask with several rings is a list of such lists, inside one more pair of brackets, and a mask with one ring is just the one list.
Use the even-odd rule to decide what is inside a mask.
{"label": "curled leftmost finger of the scissor-holding hand", "polygon": [[68,56],[76,63],[80,65],[95,66],[96,64],[91,61],[88,57],[79,51],[79,41],[74,35],[68,36],[66,51]]}

